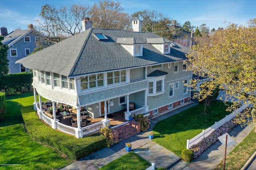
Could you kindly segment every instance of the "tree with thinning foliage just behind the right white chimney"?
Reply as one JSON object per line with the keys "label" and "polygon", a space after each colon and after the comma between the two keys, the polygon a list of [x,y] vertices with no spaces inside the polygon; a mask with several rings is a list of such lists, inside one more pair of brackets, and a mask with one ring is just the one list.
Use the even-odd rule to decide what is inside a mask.
{"label": "tree with thinning foliage just behind the right white chimney", "polygon": [[142,20],[142,31],[153,32],[172,39],[172,20],[156,10],[143,10],[132,14],[132,20]]}

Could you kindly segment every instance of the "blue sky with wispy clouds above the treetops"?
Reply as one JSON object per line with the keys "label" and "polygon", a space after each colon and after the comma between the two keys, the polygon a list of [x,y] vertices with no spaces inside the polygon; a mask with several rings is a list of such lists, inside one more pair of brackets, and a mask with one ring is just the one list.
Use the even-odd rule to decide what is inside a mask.
{"label": "blue sky with wispy clouds above the treetops", "polygon": [[[255,0],[114,0],[120,2],[124,12],[133,14],[145,9],[161,12],[181,25],[203,23],[210,29],[225,27],[228,23],[248,26],[248,20],[256,18]],[[52,4],[57,8],[70,4],[92,4],[98,0],[1,0],[0,27],[7,27],[8,33],[16,28],[28,29],[28,24],[37,25],[41,7]],[[226,21],[226,23],[225,23]]]}

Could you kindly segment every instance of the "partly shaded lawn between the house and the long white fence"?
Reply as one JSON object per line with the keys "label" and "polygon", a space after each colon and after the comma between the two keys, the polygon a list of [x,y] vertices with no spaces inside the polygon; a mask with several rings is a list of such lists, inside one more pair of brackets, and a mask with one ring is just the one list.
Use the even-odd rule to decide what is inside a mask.
{"label": "partly shaded lawn between the house and the long white fence", "polygon": [[203,105],[198,105],[164,119],[154,127],[153,141],[181,156],[182,150],[186,149],[187,139],[192,139],[215,121],[230,114],[226,111],[227,107],[222,101],[216,100],[207,108],[207,114],[202,113]]}

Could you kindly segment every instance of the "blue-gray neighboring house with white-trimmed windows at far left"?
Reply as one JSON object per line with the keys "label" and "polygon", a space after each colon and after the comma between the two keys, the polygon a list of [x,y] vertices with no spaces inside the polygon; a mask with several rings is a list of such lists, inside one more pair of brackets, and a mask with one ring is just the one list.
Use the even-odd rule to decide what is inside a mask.
{"label": "blue-gray neighboring house with white-trimmed windows at far left", "polygon": [[22,64],[15,62],[34,51],[36,41],[38,41],[38,37],[34,34],[34,31],[32,24],[29,24],[26,30],[15,30],[9,34],[7,34],[7,28],[1,28],[1,35],[4,35],[2,43],[9,47],[7,57],[9,60],[9,73],[19,73],[28,70]]}

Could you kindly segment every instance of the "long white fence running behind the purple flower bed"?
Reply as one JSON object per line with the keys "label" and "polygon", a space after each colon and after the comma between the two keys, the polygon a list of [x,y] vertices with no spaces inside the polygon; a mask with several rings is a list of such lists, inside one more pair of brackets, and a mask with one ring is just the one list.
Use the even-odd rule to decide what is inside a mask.
{"label": "long white fence running behind the purple flower bed", "polygon": [[210,133],[212,133],[215,129],[224,125],[224,123],[226,123],[227,121],[230,121],[233,117],[236,117],[236,115],[240,113],[244,108],[250,107],[250,106],[251,105],[248,105],[248,104],[242,105],[241,107],[236,109],[234,112],[230,113],[229,115],[226,115],[226,117],[224,117],[220,121],[215,122],[214,125],[212,125],[211,127],[208,127],[206,130],[202,130],[200,134],[196,135],[190,140],[188,139],[186,148],[189,149],[192,145],[199,143],[202,139],[210,135]]}

